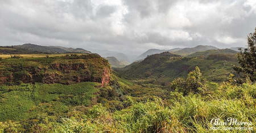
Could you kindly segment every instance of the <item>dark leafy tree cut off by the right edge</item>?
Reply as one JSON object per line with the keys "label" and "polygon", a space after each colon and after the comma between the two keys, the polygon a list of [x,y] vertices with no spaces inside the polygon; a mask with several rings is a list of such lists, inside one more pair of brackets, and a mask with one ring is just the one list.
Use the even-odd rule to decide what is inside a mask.
{"label": "dark leafy tree cut off by the right edge", "polygon": [[237,60],[240,66],[233,66],[238,74],[242,74],[242,78],[250,78],[256,81],[256,28],[254,33],[247,36],[247,48],[237,54]]}

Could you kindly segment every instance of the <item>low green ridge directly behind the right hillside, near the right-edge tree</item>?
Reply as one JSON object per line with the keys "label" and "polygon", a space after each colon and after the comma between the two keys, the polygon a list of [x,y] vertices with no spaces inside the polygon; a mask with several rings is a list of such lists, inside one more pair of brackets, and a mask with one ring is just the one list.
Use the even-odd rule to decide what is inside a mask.
{"label": "low green ridge directly behind the right hillside, near the right-edge tree", "polygon": [[196,52],[187,57],[207,57],[210,54],[236,54],[238,52],[231,49],[206,50],[204,52]]}

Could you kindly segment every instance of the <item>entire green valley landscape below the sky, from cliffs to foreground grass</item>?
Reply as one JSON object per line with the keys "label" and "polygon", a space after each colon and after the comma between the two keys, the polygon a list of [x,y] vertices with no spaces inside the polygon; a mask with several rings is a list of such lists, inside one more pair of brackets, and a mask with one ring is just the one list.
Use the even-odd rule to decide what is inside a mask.
{"label": "entire green valley landscape below the sky, from cliffs to foreground grass", "polygon": [[54,48],[66,52],[1,48],[0,132],[206,132],[240,113],[255,123],[255,81],[234,69],[241,52],[149,50],[129,63]]}

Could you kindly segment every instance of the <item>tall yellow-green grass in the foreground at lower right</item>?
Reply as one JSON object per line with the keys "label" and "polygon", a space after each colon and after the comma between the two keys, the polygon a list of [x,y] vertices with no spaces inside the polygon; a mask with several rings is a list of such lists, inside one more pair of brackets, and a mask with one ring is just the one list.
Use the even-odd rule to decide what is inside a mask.
{"label": "tall yellow-green grass in the foreground at lower right", "polygon": [[[188,96],[173,94],[174,99],[171,102],[160,98],[145,103],[133,102],[128,108],[114,113],[110,113],[102,105],[96,105],[83,117],[62,119],[56,131],[253,132],[252,130],[211,130],[212,118],[226,121],[229,117],[243,122],[250,121],[253,123],[251,127],[255,130],[256,84],[246,83],[240,86],[223,84],[214,90],[204,88],[201,91]],[[209,91],[208,95],[205,95],[205,91]]]}

